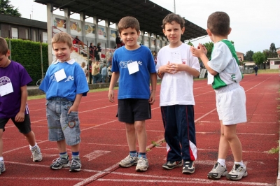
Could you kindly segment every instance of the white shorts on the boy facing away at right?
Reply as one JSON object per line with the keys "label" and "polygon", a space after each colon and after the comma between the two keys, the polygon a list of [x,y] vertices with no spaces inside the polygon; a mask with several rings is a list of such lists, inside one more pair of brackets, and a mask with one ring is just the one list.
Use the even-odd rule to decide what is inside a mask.
{"label": "white shorts on the boy facing away at right", "polygon": [[221,87],[215,92],[218,117],[224,125],[247,121],[246,94],[239,83]]}

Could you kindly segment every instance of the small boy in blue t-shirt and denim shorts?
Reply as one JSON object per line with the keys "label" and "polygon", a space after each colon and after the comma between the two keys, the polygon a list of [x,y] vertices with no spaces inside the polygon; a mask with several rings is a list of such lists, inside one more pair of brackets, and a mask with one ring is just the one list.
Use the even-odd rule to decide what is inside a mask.
{"label": "small boy in blue t-shirt and denim shorts", "polygon": [[[57,61],[48,68],[39,89],[47,99],[48,138],[57,141],[59,158],[50,169],[70,166],[69,171],[80,171],[80,120],[78,106],[83,95],[88,92],[87,79],[80,65],[70,58],[73,52],[72,38],[65,32],[55,34],[52,49]],[[66,152],[66,144],[71,145],[72,160]]]}

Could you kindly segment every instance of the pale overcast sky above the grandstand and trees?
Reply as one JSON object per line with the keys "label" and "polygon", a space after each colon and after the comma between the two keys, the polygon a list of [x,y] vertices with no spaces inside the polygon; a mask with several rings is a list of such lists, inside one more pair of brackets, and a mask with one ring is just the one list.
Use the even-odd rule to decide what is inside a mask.
{"label": "pale overcast sky above the grandstand and trees", "polygon": [[[274,43],[276,48],[280,48],[279,0],[152,0],[152,2],[172,12],[174,12],[175,3],[176,14],[185,17],[186,20],[203,29],[207,29],[207,18],[211,13],[216,11],[228,13],[232,28],[228,40],[233,41],[235,50],[244,53],[244,55],[249,50],[253,52],[269,50],[271,43]],[[47,8],[41,3],[35,3],[33,0],[10,0],[10,4],[18,8],[22,17],[47,21]],[[64,15],[64,13],[57,11],[54,13]],[[71,18],[79,19],[79,16],[71,15]],[[207,36],[193,39],[190,42],[197,46],[198,43],[208,43],[211,40]]]}

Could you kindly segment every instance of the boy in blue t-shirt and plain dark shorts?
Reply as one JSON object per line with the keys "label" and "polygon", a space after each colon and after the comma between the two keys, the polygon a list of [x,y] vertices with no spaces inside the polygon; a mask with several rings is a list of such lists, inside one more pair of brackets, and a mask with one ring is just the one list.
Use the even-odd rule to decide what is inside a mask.
{"label": "boy in blue t-shirt and plain dark shorts", "polygon": [[[120,78],[118,120],[125,122],[127,143],[130,148],[130,155],[120,161],[119,165],[121,167],[137,165],[136,171],[146,171],[148,159],[145,120],[151,119],[151,105],[155,102],[157,84],[155,62],[151,50],[137,43],[140,26],[136,18],[123,17],[118,23],[118,31],[125,46],[114,52],[108,97],[109,101],[114,101],[113,87]],[[139,143],[139,153],[136,139]]]}

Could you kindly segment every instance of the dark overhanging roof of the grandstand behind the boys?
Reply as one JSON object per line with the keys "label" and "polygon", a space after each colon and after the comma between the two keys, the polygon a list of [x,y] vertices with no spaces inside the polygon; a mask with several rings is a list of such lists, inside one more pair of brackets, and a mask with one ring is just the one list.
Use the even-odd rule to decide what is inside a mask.
{"label": "dark overhanging roof of the grandstand behind the boys", "polygon": [[[148,0],[34,0],[36,3],[51,3],[53,9],[69,8],[71,13],[84,13],[85,17],[97,16],[100,20],[118,23],[122,17],[137,18],[141,30],[162,36],[162,20],[171,11]],[[207,31],[185,19],[185,32],[182,41],[206,36]]]}

